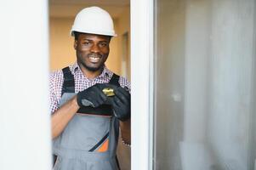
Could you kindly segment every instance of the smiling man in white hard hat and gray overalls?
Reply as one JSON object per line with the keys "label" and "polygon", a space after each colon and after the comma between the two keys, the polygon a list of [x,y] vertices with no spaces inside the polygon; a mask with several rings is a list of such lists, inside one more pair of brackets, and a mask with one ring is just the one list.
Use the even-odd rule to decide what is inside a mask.
{"label": "smiling man in white hard hat and gray overalls", "polygon": [[77,62],[50,76],[54,169],[116,170],[119,127],[130,144],[130,84],[105,67],[116,36],[110,14],[82,9],[71,36]]}

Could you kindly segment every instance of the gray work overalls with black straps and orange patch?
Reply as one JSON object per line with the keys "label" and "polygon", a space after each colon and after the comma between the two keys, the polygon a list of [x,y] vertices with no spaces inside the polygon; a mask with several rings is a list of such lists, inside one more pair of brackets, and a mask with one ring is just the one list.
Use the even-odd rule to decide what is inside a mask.
{"label": "gray work overalls with black straps and orange patch", "polygon": [[[75,95],[74,77],[71,75],[71,71],[65,67],[63,73],[65,81],[60,106]],[[118,83],[118,79],[110,81],[110,83]],[[107,109],[99,111],[107,111]],[[84,114],[86,112],[77,111],[65,130],[53,140],[53,154],[57,156],[54,170],[118,169],[116,150],[119,123],[117,118],[109,113],[106,113],[105,116],[96,116]],[[94,112],[94,108],[88,108],[88,112]]]}

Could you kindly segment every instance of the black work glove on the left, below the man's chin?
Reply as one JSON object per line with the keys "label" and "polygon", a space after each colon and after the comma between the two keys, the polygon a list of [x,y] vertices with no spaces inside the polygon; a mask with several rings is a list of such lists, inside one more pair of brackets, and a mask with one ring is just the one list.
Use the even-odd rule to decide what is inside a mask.
{"label": "black work glove on the left, below the man's chin", "polygon": [[105,84],[95,84],[94,86],[83,90],[77,94],[77,104],[82,106],[98,107],[105,103],[107,97],[102,92]]}

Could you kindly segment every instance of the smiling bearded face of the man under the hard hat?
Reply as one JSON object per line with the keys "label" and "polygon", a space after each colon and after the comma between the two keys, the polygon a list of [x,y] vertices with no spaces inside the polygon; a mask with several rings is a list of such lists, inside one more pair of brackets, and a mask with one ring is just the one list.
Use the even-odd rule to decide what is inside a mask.
{"label": "smiling bearded face of the man under the hard hat", "polygon": [[79,34],[74,48],[77,63],[88,71],[100,71],[110,52],[111,37],[95,34]]}

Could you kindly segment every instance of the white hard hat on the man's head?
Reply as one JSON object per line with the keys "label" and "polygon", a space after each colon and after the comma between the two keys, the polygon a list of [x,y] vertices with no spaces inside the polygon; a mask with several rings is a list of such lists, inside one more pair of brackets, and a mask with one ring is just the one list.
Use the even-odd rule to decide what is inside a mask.
{"label": "white hard hat on the man's head", "polygon": [[71,36],[74,31],[117,37],[111,15],[99,7],[83,8],[76,16]]}

